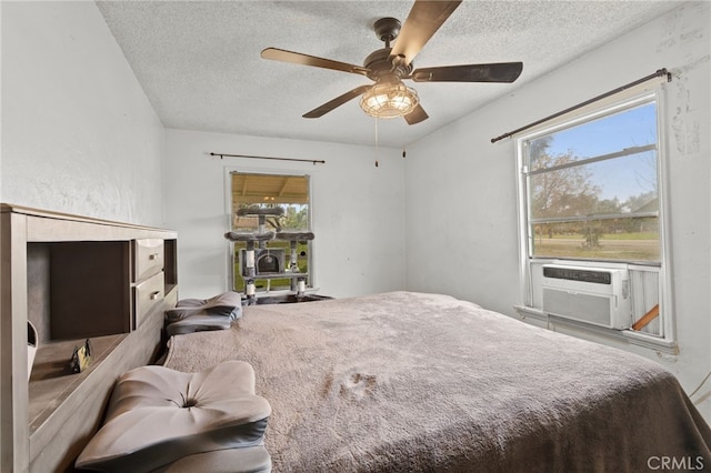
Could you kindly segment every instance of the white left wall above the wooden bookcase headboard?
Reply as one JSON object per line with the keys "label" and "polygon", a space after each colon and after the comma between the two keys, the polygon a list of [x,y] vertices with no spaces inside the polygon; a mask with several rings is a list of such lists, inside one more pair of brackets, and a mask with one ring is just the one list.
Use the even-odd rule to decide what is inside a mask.
{"label": "white left wall above the wooden bookcase headboard", "polygon": [[94,2],[0,8],[0,201],[162,224],[163,127]]}

